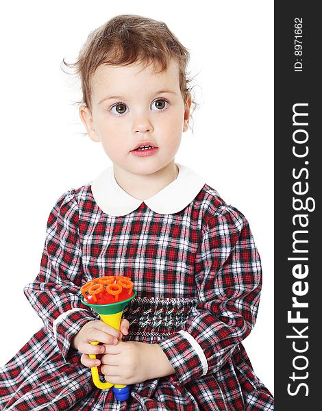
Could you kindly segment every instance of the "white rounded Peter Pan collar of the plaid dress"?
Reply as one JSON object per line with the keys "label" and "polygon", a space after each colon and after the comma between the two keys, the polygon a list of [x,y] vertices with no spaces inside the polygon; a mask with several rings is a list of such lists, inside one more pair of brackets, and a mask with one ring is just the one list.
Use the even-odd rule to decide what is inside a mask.
{"label": "white rounded Peter Pan collar of the plaid dress", "polygon": [[113,166],[105,169],[91,183],[92,195],[103,212],[112,216],[125,216],[145,203],[158,214],[173,214],[186,208],[205,184],[195,171],[177,164],[177,178],[146,200],[129,195],[114,177]]}

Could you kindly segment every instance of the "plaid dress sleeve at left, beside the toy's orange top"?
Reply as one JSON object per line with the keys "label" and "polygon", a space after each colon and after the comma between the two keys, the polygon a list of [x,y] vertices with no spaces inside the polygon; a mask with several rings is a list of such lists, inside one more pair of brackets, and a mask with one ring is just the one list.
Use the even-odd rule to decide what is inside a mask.
{"label": "plaid dress sleeve at left, beside the toy's orange top", "polygon": [[49,214],[40,272],[24,288],[64,360],[68,360],[73,336],[85,323],[96,319],[80,301],[83,270],[78,221],[75,190],[69,190]]}

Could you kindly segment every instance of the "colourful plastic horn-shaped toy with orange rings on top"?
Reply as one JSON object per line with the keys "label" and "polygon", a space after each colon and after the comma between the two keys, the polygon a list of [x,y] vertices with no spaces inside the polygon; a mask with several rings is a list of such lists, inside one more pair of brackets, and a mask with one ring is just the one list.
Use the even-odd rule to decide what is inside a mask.
{"label": "colourful plastic horn-shaped toy with orange rings on top", "polygon": [[[84,284],[80,290],[83,295],[82,303],[94,308],[104,323],[120,330],[123,310],[136,296],[131,279],[122,275],[97,277]],[[98,345],[99,341],[92,341],[90,344]],[[92,354],[89,357],[96,358]],[[118,401],[126,401],[129,398],[129,386],[101,382],[97,366],[93,366],[91,371],[92,380],[97,388],[106,390],[113,387]]]}

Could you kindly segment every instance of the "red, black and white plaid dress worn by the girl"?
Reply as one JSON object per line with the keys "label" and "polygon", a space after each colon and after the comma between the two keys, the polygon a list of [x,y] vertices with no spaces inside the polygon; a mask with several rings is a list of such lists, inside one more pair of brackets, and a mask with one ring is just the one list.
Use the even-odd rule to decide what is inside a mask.
{"label": "red, black and white plaid dress worn by the girl", "polygon": [[[177,192],[176,212],[136,199],[133,206],[123,192],[135,209],[108,214],[90,183],[55,203],[40,272],[25,287],[44,325],[0,370],[1,410],[273,410],[241,343],[256,321],[262,284],[249,224],[208,184],[193,194],[193,172],[179,170],[185,178],[150,203],[162,208]],[[70,346],[99,319],[82,305],[79,288],[101,275],[132,277],[137,297],[123,313],[130,323],[123,340],[158,343],[175,369],[132,385],[125,402],[94,386]]]}

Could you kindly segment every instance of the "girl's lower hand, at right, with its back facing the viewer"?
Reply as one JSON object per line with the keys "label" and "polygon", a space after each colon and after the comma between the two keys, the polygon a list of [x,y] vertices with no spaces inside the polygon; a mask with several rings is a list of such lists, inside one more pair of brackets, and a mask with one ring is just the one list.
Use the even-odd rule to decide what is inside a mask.
{"label": "girl's lower hand, at right, with its back facing the viewer", "polygon": [[175,373],[158,344],[119,341],[104,347],[101,372],[111,384],[136,384]]}

